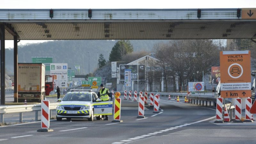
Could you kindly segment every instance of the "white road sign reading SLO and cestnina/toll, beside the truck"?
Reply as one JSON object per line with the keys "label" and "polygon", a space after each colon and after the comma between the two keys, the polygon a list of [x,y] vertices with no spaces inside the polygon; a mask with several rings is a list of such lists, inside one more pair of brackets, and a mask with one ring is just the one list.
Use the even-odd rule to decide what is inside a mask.
{"label": "white road sign reading SLO and cestnina/toll, beside the truck", "polygon": [[66,88],[68,87],[68,64],[67,63],[51,63],[51,76],[53,78],[53,87]]}

